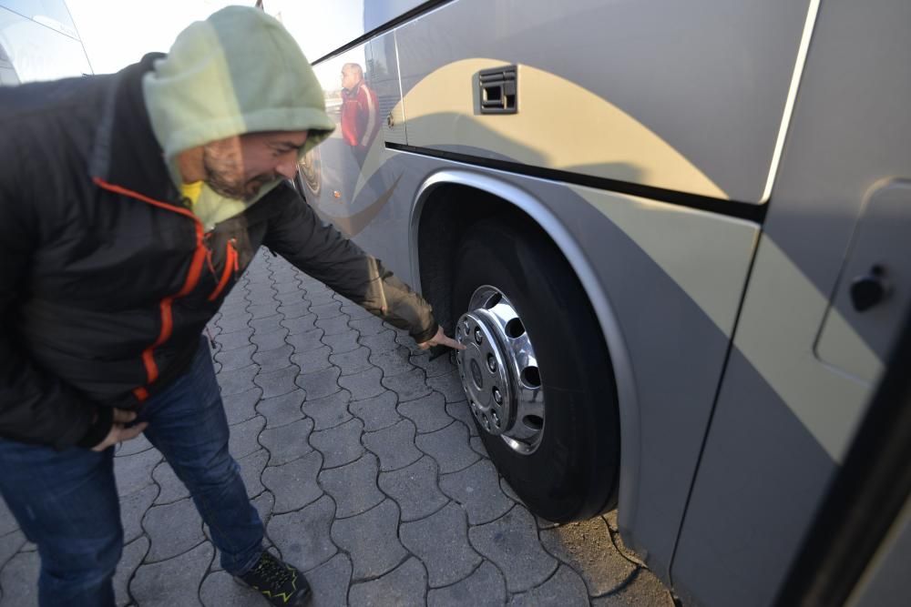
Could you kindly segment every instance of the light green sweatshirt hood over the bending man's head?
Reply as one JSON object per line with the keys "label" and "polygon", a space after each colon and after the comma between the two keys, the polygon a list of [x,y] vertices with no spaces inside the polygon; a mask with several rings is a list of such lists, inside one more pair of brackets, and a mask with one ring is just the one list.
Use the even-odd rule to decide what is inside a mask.
{"label": "light green sweatshirt hood over the bending man's head", "polygon": [[[177,156],[191,147],[244,133],[308,130],[302,156],[335,127],[300,46],[276,19],[249,6],[229,6],[189,25],[142,85],[152,130],[178,187]],[[205,223],[236,215],[279,183],[261,187],[252,200],[223,199],[235,204],[216,214],[224,216],[227,207],[233,212]],[[205,189],[203,197],[218,196]]]}

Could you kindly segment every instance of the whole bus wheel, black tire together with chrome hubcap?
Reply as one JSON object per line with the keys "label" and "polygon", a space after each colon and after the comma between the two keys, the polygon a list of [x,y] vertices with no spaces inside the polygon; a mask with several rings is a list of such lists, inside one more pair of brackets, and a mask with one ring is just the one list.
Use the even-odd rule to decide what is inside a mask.
{"label": "whole bus wheel, black tire together with chrome hubcap", "polygon": [[[612,507],[619,474],[617,390],[589,300],[533,225],[488,219],[456,252],[456,355],[487,452],[549,521]],[[454,314],[454,316],[455,316]]]}

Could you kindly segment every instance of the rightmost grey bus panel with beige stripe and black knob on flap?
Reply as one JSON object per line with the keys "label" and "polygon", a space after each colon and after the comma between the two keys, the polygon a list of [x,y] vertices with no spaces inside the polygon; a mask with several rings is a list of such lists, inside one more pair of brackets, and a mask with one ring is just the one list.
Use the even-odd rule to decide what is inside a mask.
{"label": "rightmost grey bus panel with beige stripe and black knob on flap", "polygon": [[[671,569],[685,600],[773,600],[906,317],[908,24],[905,0],[821,7]],[[857,313],[876,265],[892,291]]]}

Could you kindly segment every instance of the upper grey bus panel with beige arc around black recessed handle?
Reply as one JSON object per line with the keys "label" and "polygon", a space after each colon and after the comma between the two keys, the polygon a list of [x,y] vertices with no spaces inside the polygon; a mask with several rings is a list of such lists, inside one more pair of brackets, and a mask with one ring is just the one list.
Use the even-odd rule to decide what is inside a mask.
{"label": "upper grey bus panel with beige arc around black recessed handle", "polygon": [[[808,4],[445,4],[397,30],[408,144],[761,201]],[[511,64],[517,113],[483,113]]]}

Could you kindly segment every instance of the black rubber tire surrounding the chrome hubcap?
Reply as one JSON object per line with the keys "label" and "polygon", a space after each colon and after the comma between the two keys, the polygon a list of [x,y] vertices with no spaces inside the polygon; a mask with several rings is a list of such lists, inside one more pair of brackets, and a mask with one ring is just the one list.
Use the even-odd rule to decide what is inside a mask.
{"label": "black rubber tire surrounding the chrome hubcap", "polygon": [[468,228],[455,255],[453,317],[476,288],[513,304],[534,345],[546,422],[537,450],[519,454],[478,432],[497,470],[529,509],[548,521],[588,519],[616,502],[619,410],[609,352],[572,268],[539,228],[486,219]]}

